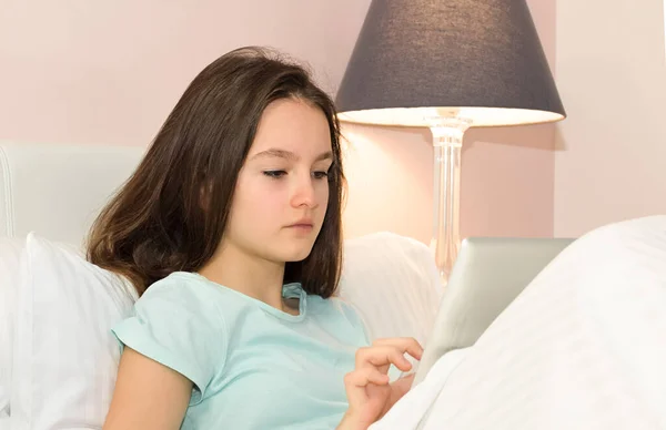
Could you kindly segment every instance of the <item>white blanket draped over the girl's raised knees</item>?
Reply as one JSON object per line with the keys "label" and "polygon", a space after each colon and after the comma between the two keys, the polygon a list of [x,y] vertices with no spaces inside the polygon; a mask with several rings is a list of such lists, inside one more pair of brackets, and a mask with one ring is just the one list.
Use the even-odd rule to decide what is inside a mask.
{"label": "white blanket draped over the girl's raised knees", "polygon": [[666,216],[576,240],[440,369],[376,429],[666,429]]}

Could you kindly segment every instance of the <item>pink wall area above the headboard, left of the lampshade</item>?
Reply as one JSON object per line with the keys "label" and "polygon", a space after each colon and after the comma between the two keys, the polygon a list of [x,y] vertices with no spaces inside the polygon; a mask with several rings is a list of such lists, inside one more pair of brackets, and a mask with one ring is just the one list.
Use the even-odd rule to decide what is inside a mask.
{"label": "pink wall area above the headboard, left of the lampshade", "polygon": [[145,145],[192,78],[239,45],[307,60],[332,89],[370,0],[1,4],[0,139]]}

